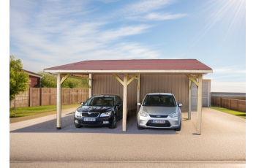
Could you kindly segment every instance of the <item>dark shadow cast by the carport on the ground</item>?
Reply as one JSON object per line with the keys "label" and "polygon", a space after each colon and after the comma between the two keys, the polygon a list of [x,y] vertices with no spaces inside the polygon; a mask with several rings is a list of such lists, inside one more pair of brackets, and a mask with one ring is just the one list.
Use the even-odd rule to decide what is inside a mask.
{"label": "dark shadow cast by the carport on the ground", "polygon": [[74,113],[68,113],[61,118],[61,129],[56,130],[56,119],[38,123],[22,129],[16,129],[10,132],[27,132],[27,133],[107,133],[107,134],[177,134],[173,129],[143,129],[137,128],[137,115],[133,114],[127,118],[127,131],[122,131],[122,120],[117,122],[116,129],[108,127],[82,127],[75,128]]}

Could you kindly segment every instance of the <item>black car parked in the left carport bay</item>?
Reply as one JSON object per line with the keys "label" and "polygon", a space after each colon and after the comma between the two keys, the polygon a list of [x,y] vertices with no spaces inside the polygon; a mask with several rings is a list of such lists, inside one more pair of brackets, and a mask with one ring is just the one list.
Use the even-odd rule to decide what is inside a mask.
{"label": "black car parked in the left carport bay", "polygon": [[81,103],[75,111],[74,123],[76,128],[82,126],[108,126],[116,128],[116,121],[123,118],[123,102],[119,96],[91,96],[86,103]]}

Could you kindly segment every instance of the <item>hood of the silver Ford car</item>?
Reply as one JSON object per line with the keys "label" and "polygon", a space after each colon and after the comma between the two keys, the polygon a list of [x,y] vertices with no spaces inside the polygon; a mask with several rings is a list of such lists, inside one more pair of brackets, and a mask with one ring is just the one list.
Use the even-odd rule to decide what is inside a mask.
{"label": "hood of the silver Ford car", "polygon": [[170,115],[173,112],[176,112],[177,107],[151,107],[151,106],[142,106],[144,112],[147,112],[149,115]]}

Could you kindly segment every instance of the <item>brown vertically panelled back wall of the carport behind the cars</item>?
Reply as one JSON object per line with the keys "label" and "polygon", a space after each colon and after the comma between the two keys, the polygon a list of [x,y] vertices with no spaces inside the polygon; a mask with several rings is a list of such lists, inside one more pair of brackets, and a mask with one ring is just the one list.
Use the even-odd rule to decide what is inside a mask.
{"label": "brown vertically panelled back wall of the carport behind the cars", "polygon": [[[124,75],[118,75],[124,80]],[[92,75],[92,95],[116,94],[123,100],[123,85],[113,75]],[[189,110],[189,77],[187,75],[140,75],[140,102],[147,93],[173,93],[182,112]],[[136,110],[137,80],[132,80],[127,91],[127,110]]]}

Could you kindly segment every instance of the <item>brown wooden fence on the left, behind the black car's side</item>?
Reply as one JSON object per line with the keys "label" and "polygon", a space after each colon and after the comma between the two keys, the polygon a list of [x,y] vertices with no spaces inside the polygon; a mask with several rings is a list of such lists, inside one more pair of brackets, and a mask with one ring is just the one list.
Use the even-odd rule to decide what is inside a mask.
{"label": "brown wooden fence on the left, behind the black car's side", "polygon": [[[89,98],[89,89],[85,88],[62,88],[61,104],[74,104],[85,102]],[[10,102],[10,108],[16,107],[34,107],[56,105],[56,88],[29,88],[29,91],[16,95],[16,102]]]}

